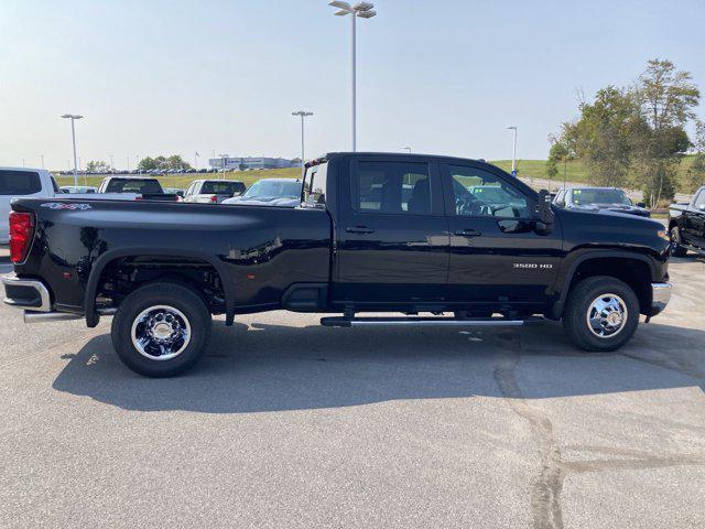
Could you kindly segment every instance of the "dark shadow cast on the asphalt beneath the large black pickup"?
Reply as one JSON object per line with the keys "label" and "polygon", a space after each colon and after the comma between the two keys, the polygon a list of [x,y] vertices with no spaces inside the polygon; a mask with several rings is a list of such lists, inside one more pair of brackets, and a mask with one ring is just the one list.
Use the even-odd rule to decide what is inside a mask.
{"label": "dark shadow cast on the asphalt beneath the large black pickup", "polygon": [[549,323],[458,332],[227,328],[216,322],[206,357],[184,376],[140,377],[117,358],[109,335],[101,335],[72,355],[53,387],[139,411],[306,410],[400,399],[505,398],[496,377],[510,361],[524,399],[702,389],[704,344],[703,331],[658,324],[642,325],[620,353],[584,354]]}

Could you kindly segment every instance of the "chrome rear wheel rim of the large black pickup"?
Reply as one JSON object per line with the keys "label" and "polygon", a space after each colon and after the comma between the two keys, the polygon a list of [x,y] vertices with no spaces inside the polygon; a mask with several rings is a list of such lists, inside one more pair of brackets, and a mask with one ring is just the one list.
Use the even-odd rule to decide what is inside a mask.
{"label": "chrome rear wheel rim of the large black pickup", "polygon": [[132,345],[150,360],[171,360],[191,342],[191,323],[178,309],[154,305],[132,322]]}

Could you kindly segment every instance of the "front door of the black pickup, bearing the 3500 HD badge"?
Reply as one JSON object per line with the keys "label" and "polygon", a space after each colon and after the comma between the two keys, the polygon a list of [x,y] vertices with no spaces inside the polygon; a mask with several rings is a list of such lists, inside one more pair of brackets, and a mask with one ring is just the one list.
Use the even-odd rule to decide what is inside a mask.
{"label": "front door of the black pickup, bearing the 3500 HD badge", "polygon": [[561,257],[561,233],[539,235],[536,196],[487,165],[442,164],[451,233],[448,298],[487,310],[545,305]]}

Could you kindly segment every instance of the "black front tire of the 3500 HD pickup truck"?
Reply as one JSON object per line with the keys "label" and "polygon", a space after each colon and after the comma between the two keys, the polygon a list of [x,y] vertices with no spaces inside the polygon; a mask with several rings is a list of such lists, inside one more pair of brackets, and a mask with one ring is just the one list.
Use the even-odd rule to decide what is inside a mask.
{"label": "black front tire of the 3500 HD pickup truck", "polygon": [[[612,295],[607,296],[607,294]],[[623,305],[626,309],[626,317],[621,317],[621,325],[612,334],[609,334],[611,327],[598,326],[592,331],[594,327],[588,323],[588,311],[592,311],[593,303],[600,296],[604,296],[603,302],[609,300],[615,306]],[[608,309],[608,312],[615,312],[611,305]],[[595,313],[592,312],[592,314]],[[623,315],[623,311],[621,314]],[[631,287],[623,281],[609,276],[596,276],[584,279],[571,289],[563,313],[563,328],[576,347],[589,352],[616,350],[633,336],[638,325],[639,299]],[[605,335],[598,336],[600,332]]]}

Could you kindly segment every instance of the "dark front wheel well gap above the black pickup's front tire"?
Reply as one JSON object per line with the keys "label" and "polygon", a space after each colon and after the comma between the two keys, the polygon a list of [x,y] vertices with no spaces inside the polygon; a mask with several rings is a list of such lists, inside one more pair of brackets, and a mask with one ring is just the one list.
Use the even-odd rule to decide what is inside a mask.
{"label": "dark front wheel well gap above the black pickup's front tire", "polygon": [[[609,276],[627,283],[639,299],[639,309],[648,314],[651,309],[651,270],[649,264],[639,259],[597,258],[581,262],[571,278],[571,287],[583,279],[595,276]],[[568,290],[568,292],[570,292]]]}

